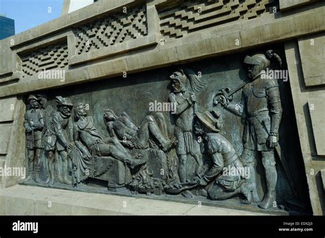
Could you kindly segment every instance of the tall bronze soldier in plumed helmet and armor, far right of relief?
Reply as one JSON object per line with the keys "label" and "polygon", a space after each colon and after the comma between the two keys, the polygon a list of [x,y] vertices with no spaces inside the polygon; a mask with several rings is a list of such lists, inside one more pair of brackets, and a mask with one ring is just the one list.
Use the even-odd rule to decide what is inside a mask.
{"label": "tall bronze soldier in plumed helmet and armor, far right of relief", "polygon": [[274,148],[278,144],[278,129],[282,116],[280,92],[278,82],[265,74],[270,61],[264,54],[246,56],[244,63],[248,67],[248,78],[251,82],[243,87],[241,103],[234,104],[222,94],[217,95],[215,100],[245,119],[241,161],[250,168],[249,181],[253,201],[259,202],[254,158],[256,152],[261,153],[267,192],[258,207],[269,209],[276,201],[277,172]]}

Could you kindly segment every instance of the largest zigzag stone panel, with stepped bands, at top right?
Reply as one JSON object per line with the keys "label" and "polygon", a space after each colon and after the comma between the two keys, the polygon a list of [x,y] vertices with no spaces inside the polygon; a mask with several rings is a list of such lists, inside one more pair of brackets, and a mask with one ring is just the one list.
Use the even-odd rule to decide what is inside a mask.
{"label": "largest zigzag stone panel, with stepped bands, at top right", "polygon": [[174,1],[158,11],[160,32],[165,39],[181,38],[200,29],[256,18],[269,12],[272,3],[274,0]]}

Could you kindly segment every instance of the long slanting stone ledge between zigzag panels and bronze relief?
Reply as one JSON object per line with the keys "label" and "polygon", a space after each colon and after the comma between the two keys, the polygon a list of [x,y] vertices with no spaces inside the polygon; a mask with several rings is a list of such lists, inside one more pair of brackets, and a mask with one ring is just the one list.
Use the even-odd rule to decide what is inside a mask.
{"label": "long slanting stone ledge between zigzag panels and bronze relief", "polygon": [[[89,7],[91,8],[91,6]],[[44,88],[53,88],[60,85],[69,85],[102,79],[104,77],[114,77],[122,75],[123,72],[138,72],[139,70],[149,70],[184,61],[193,61],[202,57],[211,57],[225,53],[244,50],[258,44],[274,43],[285,38],[302,36],[317,31],[325,30],[325,7],[307,10],[293,16],[277,17],[274,20],[264,21],[265,19],[256,18],[257,25],[241,24],[240,30],[233,31],[224,35],[215,35],[213,31],[202,34],[204,37],[191,42],[184,43],[180,38],[170,44],[156,47],[153,51],[143,51],[137,54],[130,54],[128,57],[115,57],[108,61],[98,62],[82,68],[67,70],[66,81],[40,79],[31,82],[21,82],[7,87],[0,88],[0,96],[31,92]],[[70,14],[69,14],[70,15]],[[69,16],[68,15],[68,16]],[[254,19],[249,20],[254,21]],[[306,27],[308,26],[308,27]],[[41,30],[41,29],[39,29]],[[17,35],[15,36],[18,38]],[[228,38],[228,39],[227,39]],[[16,40],[15,40],[16,42]],[[195,50],[193,50],[195,46]],[[102,55],[101,55],[102,56]],[[125,61],[136,61],[141,64],[126,64]],[[37,75],[35,75],[37,77]]]}

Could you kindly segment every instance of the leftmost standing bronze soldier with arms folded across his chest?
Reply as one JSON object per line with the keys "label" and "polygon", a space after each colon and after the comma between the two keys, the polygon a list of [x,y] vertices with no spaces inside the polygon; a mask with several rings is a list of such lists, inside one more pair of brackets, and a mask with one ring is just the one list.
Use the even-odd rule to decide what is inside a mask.
{"label": "leftmost standing bronze soldier with arms folded across his chest", "polygon": [[31,94],[27,102],[32,107],[25,113],[24,127],[26,129],[26,147],[28,159],[28,175],[26,181],[33,178],[40,183],[40,153],[42,151],[42,131],[44,127],[43,113],[40,110],[38,98]]}

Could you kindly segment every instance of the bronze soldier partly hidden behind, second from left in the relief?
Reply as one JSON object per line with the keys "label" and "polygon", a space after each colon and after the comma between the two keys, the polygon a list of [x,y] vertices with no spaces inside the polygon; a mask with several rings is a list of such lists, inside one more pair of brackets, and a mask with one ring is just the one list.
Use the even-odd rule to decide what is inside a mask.
{"label": "bronze soldier partly hidden behind, second from left in the relief", "polygon": [[54,109],[51,105],[49,105],[47,101],[47,95],[43,93],[38,93],[36,96],[40,101],[40,108],[43,112],[44,116],[44,128],[43,128],[43,136],[42,136],[42,145],[45,154],[45,172],[47,174],[47,180],[45,183],[49,183],[51,181],[51,185],[54,183],[54,157],[56,150],[56,140],[53,129],[51,130],[51,120],[54,113]]}

